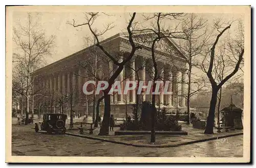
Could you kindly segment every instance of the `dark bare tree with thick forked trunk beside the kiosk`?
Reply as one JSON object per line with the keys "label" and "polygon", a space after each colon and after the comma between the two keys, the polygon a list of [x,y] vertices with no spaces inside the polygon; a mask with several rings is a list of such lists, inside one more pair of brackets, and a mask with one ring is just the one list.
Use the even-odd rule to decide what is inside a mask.
{"label": "dark bare tree with thick forked trunk beside the kiosk", "polygon": [[[218,25],[218,24],[215,24]],[[214,41],[214,43],[212,44],[210,51],[209,51],[209,65],[208,68],[206,70],[205,65],[204,65],[204,61],[207,60],[206,58],[204,58],[204,61],[202,62],[202,68],[203,71],[206,72],[207,77],[209,78],[210,84],[211,84],[211,100],[210,100],[210,107],[209,107],[209,113],[208,113],[208,117],[207,117],[207,124],[206,124],[206,128],[204,133],[205,134],[213,134],[214,133],[214,120],[215,120],[215,108],[216,108],[216,104],[217,104],[217,97],[218,97],[218,92],[221,89],[221,87],[224,85],[224,83],[226,81],[228,81],[232,76],[234,76],[238,70],[240,69],[240,64],[243,60],[243,55],[244,55],[244,45],[243,45],[243,40],[241,39],[241,43],[239,45],[233,44],[231,45],[231,47],[237,47],[237,52],[236,52],[236,58],[237,58],[237,62],[233,68],[233,70],[225,77],[223,77],[222,80],[219,81],[219,83],[216,82],[215,77],[213,76],[213,71],[214,71],[214,62],[216,59],[216,46],[218,44],[218,42],[220,41],[220,38],[223,36],[223,34],[230,29],[231,24],[227,25],[224,28],[221,28],[221,26],[217,27],[218,30],[218,35]],[[222,29],[222,30],[220,30]]]}

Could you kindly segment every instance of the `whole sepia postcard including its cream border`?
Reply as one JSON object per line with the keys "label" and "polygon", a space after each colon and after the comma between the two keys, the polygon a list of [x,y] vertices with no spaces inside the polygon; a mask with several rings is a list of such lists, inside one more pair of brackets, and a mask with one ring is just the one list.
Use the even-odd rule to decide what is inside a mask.
{"label": "whole sepia postcard including its cream border", "polygon": [[6,7],[6,162],[249,162],[250,10]]}

